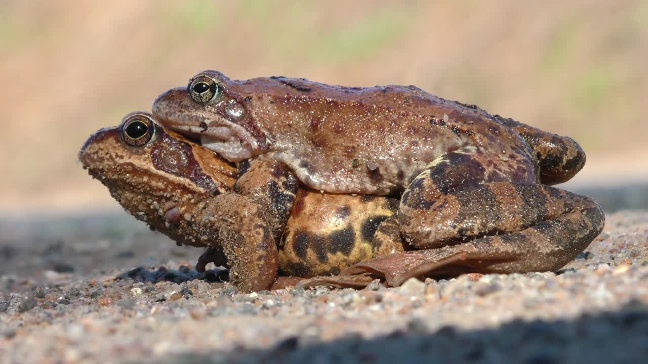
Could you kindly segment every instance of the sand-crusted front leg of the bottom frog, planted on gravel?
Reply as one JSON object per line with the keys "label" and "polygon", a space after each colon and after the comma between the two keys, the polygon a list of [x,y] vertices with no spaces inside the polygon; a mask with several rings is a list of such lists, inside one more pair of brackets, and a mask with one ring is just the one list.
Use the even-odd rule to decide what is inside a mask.
{"label": "sand-crusted front leg of the bottom frog, planted on gravel", "polygon": [[277,279],[277,244],[261,208],[248,196],[222,194],[196,205],[192,226],[197,238],[222,247],[238,290],[267,290]]}

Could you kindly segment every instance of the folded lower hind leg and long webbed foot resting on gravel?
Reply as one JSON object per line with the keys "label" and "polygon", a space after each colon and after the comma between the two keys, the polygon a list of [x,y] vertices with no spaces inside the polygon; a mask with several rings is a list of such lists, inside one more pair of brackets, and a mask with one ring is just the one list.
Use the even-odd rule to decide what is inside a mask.
{"label": "folded lower hind leg and long webbed foot resting on gravel", "polygon": [[[411,277],[555,271],[603,230],[603,210],[590,198],[543,185],[505,182],[489,183],[474,190],[485,188],[491,190],[492,201],[509,199],[508,203],[489,212],[492,222],[483,220],[479,209],[468,209],[459,229],[471,229],[470,222],[478,222],[490,236],[367,260],[345,269],[340,277],[384,277],[389,286],[399,286]],[[516,196],[512,198],[511,192]],[[466,196],[470,193],[474,192],[458,192]],[[449,222],[446,225],[453,226]],[[511,231],[516,227],[522,227],[521,231]]]}

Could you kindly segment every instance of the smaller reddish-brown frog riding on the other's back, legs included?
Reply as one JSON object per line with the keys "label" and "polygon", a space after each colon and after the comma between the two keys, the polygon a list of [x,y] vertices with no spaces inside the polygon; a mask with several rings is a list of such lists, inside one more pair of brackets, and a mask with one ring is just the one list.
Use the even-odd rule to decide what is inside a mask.
{"label": "smaller reddish-brown frog riding on the other's back, legs included", "polygon": [[[294,199],[259,194],[249,181],[276,179],[283,190],[294,174],[324,192],[399,196],[399,212],[378,233],[399,231],[415,251],[343,275],[397,285],[432,272],[554,270],[603,229],[592,199],[545,186],[583,167],[575,141],[414,86],[234,81],[204,71],[158,97],[153,113],[229,161],[254,158],[235,188],[262,209],[281,201],[284,209],[269,214],[275,231]],[[288,172],[270,173],[277,163]],[[450,260],[459,263],[441,267]]]}

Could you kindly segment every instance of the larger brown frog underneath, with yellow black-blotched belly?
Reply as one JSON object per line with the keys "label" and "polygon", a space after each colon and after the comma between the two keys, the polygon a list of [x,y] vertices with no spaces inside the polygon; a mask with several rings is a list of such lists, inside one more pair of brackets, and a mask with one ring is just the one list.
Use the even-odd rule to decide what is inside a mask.
{"label": "larger brown frog underneath, with yellow black-blotched belly", "polygon": [[[137,120],[154,131],[149,141],[133,146],[124,130]],[[259,196],[238,194],[236,177],[249,168],[237,170],[213,151],[165,130],[147,113],[132,113],[120,126],[97,131],[79,159],[133,216],[179,244],[207,247],[197,269],[204,271],[209,262],[229,267],[231,281],[242,291],[279,288],[403,250],[398,235],[382,246],[371,245],[376,222],[393,214],[397,200],[297,190],[290,179],[284,179],[284,187],[295,183],[286,189],[294,189],[297,202],[291,204],[285,228],[273,231],[279,214],[271,216],[257,203],[276,203],[272,188],[267,199],[262,196],[268,181],[249,184]],[[297,277],[277,280],[279,273]]]}

